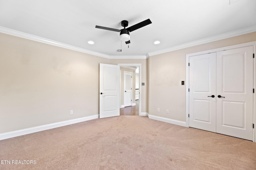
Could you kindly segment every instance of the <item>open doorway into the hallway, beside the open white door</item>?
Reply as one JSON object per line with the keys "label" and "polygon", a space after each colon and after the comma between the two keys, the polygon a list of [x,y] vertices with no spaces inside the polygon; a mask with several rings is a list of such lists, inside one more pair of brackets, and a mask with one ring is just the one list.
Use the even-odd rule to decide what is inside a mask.
{"label": "open doorway into the hallway, beside the open white door", "polygon": [[[141,64],[118,64],[120,66],[120,115],[141,115]],[[127,70],[128,69],[128,70]],[[122,70],[122,71],[121,71]],[[132,72],[132,104],[124,107],[124,93],[122,88],[124,84],[124,70]]]}

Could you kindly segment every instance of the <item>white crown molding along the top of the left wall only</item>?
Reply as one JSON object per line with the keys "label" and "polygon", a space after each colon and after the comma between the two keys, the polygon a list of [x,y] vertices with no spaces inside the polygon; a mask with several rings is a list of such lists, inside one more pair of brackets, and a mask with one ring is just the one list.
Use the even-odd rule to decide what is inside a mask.
{"label": "white crown molding along the top of the left wall only", "polygon": [[46,38],[43,38],[43,37],[38,37],[38,36],[35,36],[35,35],[31,35],[31,34],[28,34],[28,33],[16,31],[14,29],[9,29],[9,28],[6,28],[6,27],[1,27],[0,26],[0,32],[5,33],[5,34],[9,34],[9,35],[14,35],[16,37],[30,39],[30,40],[33,40],[33,41],[38,41],[38,42],[41,42],[41,43],[46,43],[46,44],[49,44],[49,45],[54,45],[54,46],[62,47],[62,48],[65,48],[65,49],[70,49],[70,50],[74,50],[74,51],[78,51],[78,52],[82,52],[82,53],[86,53],[86,54],[90,54],[90,55],[96,55],[98,57],[104,57],[104,58],[110,59],[109,55],[105,55],[105,54],[98,53],[98,52],[95,52],[95,51],[90,51],[90,50],[83,49],[83,48],[80,48],[80,47],[75,47],[75,46],[68,45],[68,44],[65,44],[65,43],[60,43],[58,41],[54,41],[54,40],[51,40],[51,39],[46,39]]}

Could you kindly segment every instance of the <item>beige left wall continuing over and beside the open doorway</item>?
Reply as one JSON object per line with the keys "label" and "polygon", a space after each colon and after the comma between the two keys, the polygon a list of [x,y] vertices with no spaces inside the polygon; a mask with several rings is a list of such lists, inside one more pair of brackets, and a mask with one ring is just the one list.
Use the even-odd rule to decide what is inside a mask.
{"label": "beige left wall continuing over and beside the open doorway", "polygon": [[146,62],[105,59],[0,33],[0,133],[96,115],[99,63],[140,63],[146,81]]}

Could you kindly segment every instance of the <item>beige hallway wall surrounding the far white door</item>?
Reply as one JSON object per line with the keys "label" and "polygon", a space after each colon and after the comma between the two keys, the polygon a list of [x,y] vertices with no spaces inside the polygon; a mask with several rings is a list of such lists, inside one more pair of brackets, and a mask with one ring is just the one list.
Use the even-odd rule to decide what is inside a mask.
{"label": "beige hallway wall surrounding the far white door", "polygon": [[120,67],[121,70],[121,105],[124,105],[124,72],[132,72],[132,104],[135,103],[135,84],[136,84],[136,73],[135,70]]}

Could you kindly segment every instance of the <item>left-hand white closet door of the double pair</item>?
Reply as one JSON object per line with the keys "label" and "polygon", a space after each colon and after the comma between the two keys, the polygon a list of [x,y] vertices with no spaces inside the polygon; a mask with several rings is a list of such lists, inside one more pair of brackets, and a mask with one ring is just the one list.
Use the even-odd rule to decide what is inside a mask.
{"label": "left-hand white closet door of the double pair", "polygon": [[189,126],[216,132],[216,53],[189,63]]}

